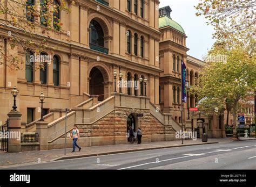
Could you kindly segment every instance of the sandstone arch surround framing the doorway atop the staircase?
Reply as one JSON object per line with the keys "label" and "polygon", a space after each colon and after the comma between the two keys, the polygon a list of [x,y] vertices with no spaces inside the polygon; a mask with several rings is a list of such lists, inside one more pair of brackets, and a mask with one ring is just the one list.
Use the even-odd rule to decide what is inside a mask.
{"label": "sandstone arch surround framing the doorway atop the staircase", "polygon": [[[112,90],[112,84],[113,84],[113,82],[110,81],[110,77],[111,77],[110,76],[110,70],[107,66],[105,66],[105,64],[102,64],[102,63],[92,63],[92,64],[89,65],[88,70],[87,70],[88,93],[90,93],[90,92],[92,93],[92,90],[90,91],[90,87],[91,87],[90,83],[92,82],[90,76],[91,76],[91,71],[92,71],[93,68],[97,68],[100,71],[100,73],[102,74],[102,77],[103,77],[103,82],[102,82],[103,88],[101,88],[101,89],[103,89],[102,94],[104,94],[104,96],[100,97],[99,100],[106,99],[107,97],[110,97],[110,93],[111,93],[111,90]],[[101,99],[101,98],[103,98],[103,99]]]}

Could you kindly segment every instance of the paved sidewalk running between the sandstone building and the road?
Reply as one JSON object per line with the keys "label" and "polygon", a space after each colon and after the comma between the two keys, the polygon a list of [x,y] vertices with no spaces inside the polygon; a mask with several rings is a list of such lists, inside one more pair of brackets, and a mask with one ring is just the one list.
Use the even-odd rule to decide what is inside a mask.
{"label": "paved sidewalk running between the sandstone building and the road", "polygon": [[[241,140],[256,140],[255,138],[241,138]],[[38,163],[49,162],[55,160],[75,159],[79,157],[98,156],[116,153],[135,152],[139,150],[161,149],[180,146],[193,146],[203,145],[209,143],[226,143],[233,141],[231,138],[220,139],[208,139],[208,142],[202,142],[201,139],[197,140],[184,140],[184,144],[181,145],[181,140],[175,141],[161,141],[161,142],[143,142],[142,144],[127,143],[121,145],[109,145],[109,146],[93,146],[83,147],[80,152],[76,149],[75,153],[71,153],[72,148],[66,149],[66,155],[64,156],[64,149],[53,150],[41,150],[30,151],[21,153],[0,153],[0,168],[2,166],[11,166],[16,164],[25,163]],[[79,145],[79,142],[78,142]]]}

